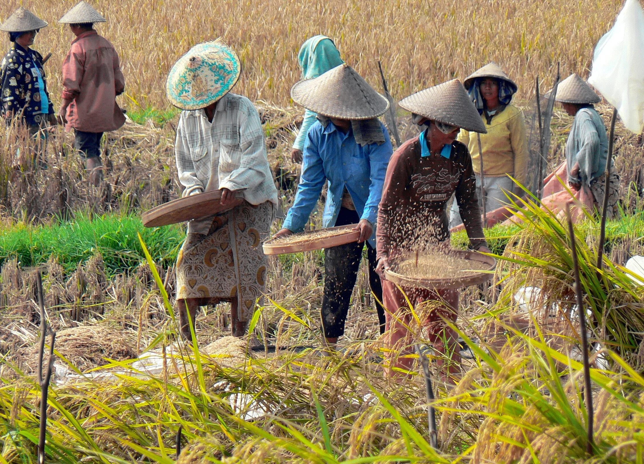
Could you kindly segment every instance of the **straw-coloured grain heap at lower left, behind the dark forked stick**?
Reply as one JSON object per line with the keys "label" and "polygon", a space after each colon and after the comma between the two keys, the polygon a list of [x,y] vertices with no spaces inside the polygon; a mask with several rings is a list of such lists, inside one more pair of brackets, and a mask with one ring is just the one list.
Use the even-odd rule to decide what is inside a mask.
{"label": "straw-coloured grain heap at lower left, behind the dark forked stick", "polygon": [[[49,343],[50,337],[47,337]],[[106,324],[82,325],[66,328],[56,333],[54,348],[62,357],[81,371],[86,371],[113,361],[135,359],[136,334]],[[35,372],[38,364],[36,342],[21,350],[21,364],[26,372]]]}

